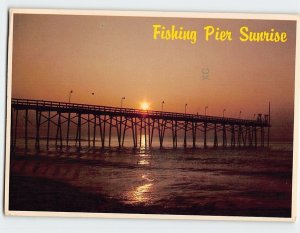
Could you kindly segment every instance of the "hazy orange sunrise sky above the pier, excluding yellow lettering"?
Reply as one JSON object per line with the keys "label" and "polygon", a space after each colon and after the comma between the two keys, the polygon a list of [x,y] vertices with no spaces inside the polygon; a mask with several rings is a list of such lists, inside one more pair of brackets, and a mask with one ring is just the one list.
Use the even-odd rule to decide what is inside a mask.
{"label": "hazy orange sunrise sky above the pier, excluding yellow lettering", "polygon": [[[153,40],[153,24],[197,30],[196,44]],[[205,41],[203,27],[233,32]],[[239,41],[239,28],[286,32],[286,43]],[[15,15],[16,98],[68,101],[252,118],[272,105],[277,130],[292,132],[295,30],[292,21]],[[202,69],[209,69],[203,80]],[[95,95],[91,93],[94,92]]]}

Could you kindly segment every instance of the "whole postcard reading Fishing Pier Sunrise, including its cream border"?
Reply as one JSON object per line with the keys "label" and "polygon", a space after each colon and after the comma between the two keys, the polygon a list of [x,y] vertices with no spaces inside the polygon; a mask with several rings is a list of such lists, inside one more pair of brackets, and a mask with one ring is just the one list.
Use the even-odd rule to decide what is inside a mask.
{"label": "whole postcard reading Fishing Pier Sunrise, including its cream border", "polygon": [[298,24],[12,9],[5,213],[294,221]]}

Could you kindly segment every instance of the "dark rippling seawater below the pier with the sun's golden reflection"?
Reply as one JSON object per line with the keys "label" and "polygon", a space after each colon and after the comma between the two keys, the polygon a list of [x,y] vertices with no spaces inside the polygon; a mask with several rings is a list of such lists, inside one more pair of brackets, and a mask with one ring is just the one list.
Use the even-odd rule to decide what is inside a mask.
{"label": "dark rippling seawater below the pier with the sun's golden reflection", "polygon": [[[292,151],[287,144],[272,144],[271,150],[112,148],[83,149],[81,153],[75,148],[58,152],[53,147],[27,153],[18,149],[13,155],[10,206],[15,209],[29,208],[21,204],[26,201],[33,202],[33,210],[69,211],[68,207],[51,206],[56,205],[51,195],[68,185],[72,190],[62,194],[65,199],[72,199],[72,195],[65,196],[75,191],[101,199],[101,203],[96,201],[89,207],[90,203],[78,200],[85,196],[74,197],[79,203],[78,208],[73,203],[74,211],[265,217],[291,214]],[[40,181],[22,180],[24,177]],[[26,197],[22,193],[26,187],[47,189],[36,196],[41,202],[48,201],[48,207],[37,205],[34,194]]]}

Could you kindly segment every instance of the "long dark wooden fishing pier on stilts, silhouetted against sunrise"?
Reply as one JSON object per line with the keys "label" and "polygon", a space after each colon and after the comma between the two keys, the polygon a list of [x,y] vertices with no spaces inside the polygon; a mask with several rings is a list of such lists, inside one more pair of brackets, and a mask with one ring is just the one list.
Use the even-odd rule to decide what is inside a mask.
{"label": "long dark wooden fishing pier on stilts, silhouetted against sunrise", "polygon": [[[34,130],[35,147],[46,140],[47,148],[55,131],[55,145],[59,148],[70,146],[75,140],[78,149],[82,147],[83,127],[87,130],[88,147],[111,147],[112,133],[117,136],[118,146],[124,146],[125,137],[132,138],[132,147],[152,147],[154,135],[159,146],[164,146],[166,132],[169,132],[173,148],[178,147],[179,134],[183,147],[192,141],[192,147],[265,147],[270,141],[269,114],[257,114],[255,119],[237,119],[198,114],[184,114],[166,111],[139,110],[88,104],[65,103],[44,100],[11,100],[11,146],[16,147],[18,134],[24,135],[24,146],[28,148],[29,127]],[[46,132],[41,132],[41,127]],[[72,139],[71,127],[76,128]],[[210,132],[210,133],[209,133]],[[200,140],[200,136],[201,140]],[[96,137],[100,143],[96,145]],[[198,137],[197,137],[198,136]],[[210,138],[209,138],[210,137]],[[143,140],[143,142],[142,142]],[[266,141],[266,142],[265,142]],[[199,146],[199,144],[201,145]]]}

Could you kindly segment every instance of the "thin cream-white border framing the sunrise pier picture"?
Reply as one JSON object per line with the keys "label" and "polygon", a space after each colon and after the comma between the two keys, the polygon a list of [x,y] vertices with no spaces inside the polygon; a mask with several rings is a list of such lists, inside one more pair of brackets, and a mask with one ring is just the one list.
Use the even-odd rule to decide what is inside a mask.
{"label": "thin cream-white border framing the sunrise pier picture", "polygon": [[[10,164],[10,115],[12,89],[12,48],[14,14],[50,14],[50,15],[97,15],[97,16],[132,16],[132,17],[180,17],[211,19],[261,19],[261,20],[295,20],[296,60],[295,60],[295,101],[294,101],[294,138],[293,138],[293,180],[292,180],[292,217],[239,217],[239,216],[196,216],[196,215],[158,215],[158,214],[114,214],[83,212],[47,212],[47,211],[11,211],[9,210],[9,164]],[[88,217],[88,218],[126,218],[126,219],[174,219],[174,220],[233,220],[233,221],[275,221],[295,222],[297,213],[297,170],[298,170],[298,131],[299,131],[299,75],[300,75],[300,16],[290,14],[244,14],[244,13],[196,13],[196,12],[154,12],[154,11],[104,11],[104,10],[61,10],[61,9],[10,9],[9,44],[7,72],[7,111],[6,111],[6,156],[5,156],[5,203],[4,212],[9,216],[42,217]]]}

